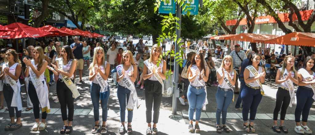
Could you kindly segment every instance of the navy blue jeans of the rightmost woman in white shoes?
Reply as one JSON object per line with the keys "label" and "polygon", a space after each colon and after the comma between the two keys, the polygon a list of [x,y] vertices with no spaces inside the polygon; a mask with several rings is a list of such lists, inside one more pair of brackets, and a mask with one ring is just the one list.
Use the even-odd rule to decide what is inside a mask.
{"label": "navy blue jeans of the rightmost woman in white shoes", "polygon": [[314,102],[312,96],[314,95],[311,88],[299,86],[296,91],[296,108],[295,108],[295,122],[300,122],[302,114],[302,122],[307,122],[308,114]]}

